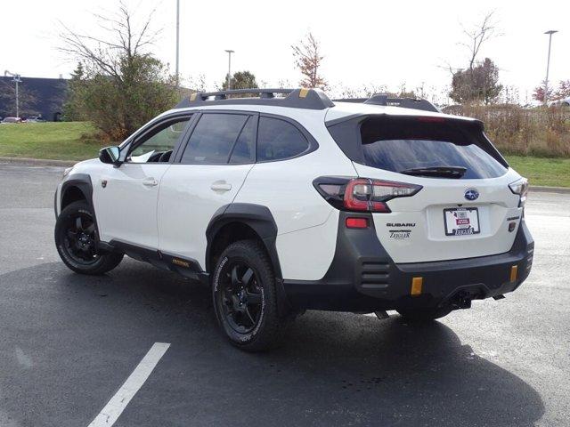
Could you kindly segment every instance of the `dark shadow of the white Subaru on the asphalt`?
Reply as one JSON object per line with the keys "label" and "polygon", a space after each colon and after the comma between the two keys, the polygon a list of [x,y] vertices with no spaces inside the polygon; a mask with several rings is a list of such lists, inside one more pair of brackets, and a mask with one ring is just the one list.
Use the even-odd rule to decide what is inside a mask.
{"label": "dark shadow of the white Subaru on the asphalt", "polygon": [[[152,342],[172,345],[120,425],[531,426],[544,413],[537,391],[476,355],[442,322],[411,326],[399,316],[307,312],[281,348],[248,354],[217,331],[205,286],[141,263],[129,260],[102,277],[44,264],[2,281],[14,313],[19,304],[29,306],[21,301],[27,295],[41,299],[28,310],[27,340],[38,347],[44,339],[73,342],[73,348],[52,343],[37,358],[49,359],[49,372],[60,375],[59,383],[46,380],[50,394],[65,384],[65,403],[85,407],[79,411],[85,421]],[[69,364],[58,351],[76,357]],[[56,368],[58,357],[68,366]],[[97,380],[85,370],[98,373]],[[77,403],[86,389],[88,404]],[[38,405],[48,407],[49,396]]]}

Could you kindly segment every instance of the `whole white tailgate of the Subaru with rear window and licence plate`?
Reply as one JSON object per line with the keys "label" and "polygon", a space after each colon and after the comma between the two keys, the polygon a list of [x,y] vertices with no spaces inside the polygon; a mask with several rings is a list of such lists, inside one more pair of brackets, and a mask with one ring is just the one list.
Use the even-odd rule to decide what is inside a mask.
{"label": "whole white tailgate of the Subaru with rear window and licence plate", "polygon": [[[371,117],[360,126],[366,178],[421,185],[373,214],[395,262],[430,262],[508,252],[522,209],[509,183],[519,176],[480,125],[444,117]],[[510,222],[515,222],[510,225]]]}

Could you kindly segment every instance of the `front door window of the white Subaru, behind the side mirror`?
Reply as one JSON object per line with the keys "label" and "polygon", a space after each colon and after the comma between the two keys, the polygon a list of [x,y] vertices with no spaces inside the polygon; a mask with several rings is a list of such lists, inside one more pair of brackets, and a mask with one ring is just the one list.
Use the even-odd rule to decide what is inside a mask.
{"label": "front door window of the white Subaru, behind the side mirror", "polygon": [[167,162],[175,148],[176,141],[190,121],[191,116],[176,117],[167,120],[135,141],[136,147],[129,153],[126,161],[130,163]]}

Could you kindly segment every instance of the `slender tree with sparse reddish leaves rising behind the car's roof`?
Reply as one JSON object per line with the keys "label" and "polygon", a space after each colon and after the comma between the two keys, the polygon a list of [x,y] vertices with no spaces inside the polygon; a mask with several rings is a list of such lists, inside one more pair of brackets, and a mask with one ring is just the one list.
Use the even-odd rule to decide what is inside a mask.
{"label": "slender tree with sparse reddish leaves rising behind the car's roof", "polygon": [[321,44],[314,38],[311,32],[307,33],[304,40],[291,45],[295,65],[304,76],[299,82],[304,87],[318,87],[325,89],[327,82],[319,74],[324,56],[321,54]]}

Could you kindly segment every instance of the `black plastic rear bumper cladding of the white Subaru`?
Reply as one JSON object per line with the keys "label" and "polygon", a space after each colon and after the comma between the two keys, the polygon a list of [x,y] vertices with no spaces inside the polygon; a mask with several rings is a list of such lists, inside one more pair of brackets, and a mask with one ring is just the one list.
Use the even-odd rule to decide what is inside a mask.
{"label": "black plastic rear bumper cladding of the white Subaru", "polygon": [[[346,216],[369,218],[368,229],[346,229]],[[505,224],[507,226],[507,224]],[[452,304],[459,295],[483,299],[517,289],[533,262],[533,238],[524,219],[510,251],[445,262],[395,264],[380,244],[371,214],[341,212],[337,248],[321,280],[284,280],[290,304],[307,310],[395,310]],[[517,266],[517,279],[510,281]],[[423,278],[422,293],[411,296],[411,279]]]}

